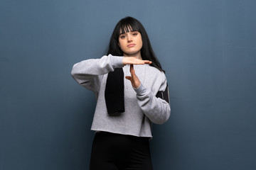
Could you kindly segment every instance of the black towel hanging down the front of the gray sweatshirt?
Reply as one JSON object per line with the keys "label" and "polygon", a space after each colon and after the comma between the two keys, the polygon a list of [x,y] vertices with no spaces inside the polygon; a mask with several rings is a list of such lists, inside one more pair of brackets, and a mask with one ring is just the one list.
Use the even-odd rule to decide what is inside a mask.
{"label": "black towel hanging down the front of the gray sweatshirt", "polygon": [[107,76],[105,89],[107,113],[124,112],[124,72],[122,68],[114,69]]}

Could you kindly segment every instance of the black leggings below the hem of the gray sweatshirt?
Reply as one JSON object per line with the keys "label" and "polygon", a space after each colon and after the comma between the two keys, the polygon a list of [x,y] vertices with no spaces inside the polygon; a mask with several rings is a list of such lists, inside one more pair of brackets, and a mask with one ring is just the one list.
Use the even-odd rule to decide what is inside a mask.
{"label": "black leggings below the hem of the gray sweatshirt", "polygon": [[97,132],[90,170],[152,170],[149,138]]}

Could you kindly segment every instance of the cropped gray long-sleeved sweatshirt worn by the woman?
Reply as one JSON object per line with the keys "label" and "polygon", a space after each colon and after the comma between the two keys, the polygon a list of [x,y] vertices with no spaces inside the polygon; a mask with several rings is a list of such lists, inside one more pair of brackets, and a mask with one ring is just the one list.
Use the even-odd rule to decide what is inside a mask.
{"label": "cropped gray long-sleeved sweatshirt worn by the woman", "polygon": [[166,89],[164,72],[148,64],[134,65],[141,86],[134,89],[124,78],[124,108],[119,115],[109,115],[105,103],[107,74],[114,68],[123,68],[124,77],[130,76],[129,65],[122,65],[123,57],[105,55],[100,59],[84,60],[74,64],[72,76],[86,89],[93,91],[97,99],[91,130],[113,132],[137,137],[152,137],[151,123],[163,124],[169,119],[169,103],[156,98],[158,91]]}

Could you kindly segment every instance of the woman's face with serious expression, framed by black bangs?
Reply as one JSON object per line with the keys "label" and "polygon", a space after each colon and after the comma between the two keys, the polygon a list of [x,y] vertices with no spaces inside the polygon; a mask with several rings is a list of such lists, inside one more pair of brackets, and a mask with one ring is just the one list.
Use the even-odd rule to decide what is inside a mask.
{"label": "woman's face with serious expression, framed by black bangs", "polygon": [[119,35],[119,47],[124,52],[125,57],[141,57],[142,35],[139,31],[131,31]]}

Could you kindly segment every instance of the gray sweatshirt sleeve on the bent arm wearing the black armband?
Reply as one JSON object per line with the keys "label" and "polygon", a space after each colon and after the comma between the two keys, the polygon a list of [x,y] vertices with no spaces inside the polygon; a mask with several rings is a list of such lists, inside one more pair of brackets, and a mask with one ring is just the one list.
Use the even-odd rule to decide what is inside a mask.
{"label": "gray sweatshirt sleeve on the bent arm wearing the black armband", "polygon": [[[161,84],[160,89],[166,89],[166,79],[163,84]],[[152,91],[142,84],[138,89],[134,89],[137,93],[137,99],[139,106],[146,117],[151,120],[152,123],[163,124],[165,123],[171,114],[171,107],[167,101],[162,98],[157,98],[154,96]],[[168,92],[168,89],[166,89]]]}

